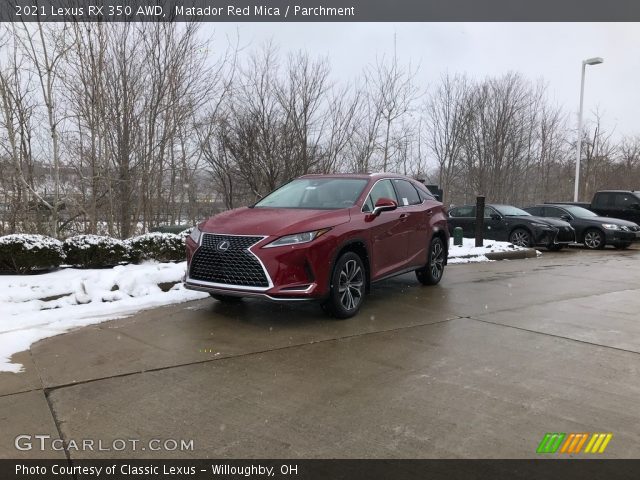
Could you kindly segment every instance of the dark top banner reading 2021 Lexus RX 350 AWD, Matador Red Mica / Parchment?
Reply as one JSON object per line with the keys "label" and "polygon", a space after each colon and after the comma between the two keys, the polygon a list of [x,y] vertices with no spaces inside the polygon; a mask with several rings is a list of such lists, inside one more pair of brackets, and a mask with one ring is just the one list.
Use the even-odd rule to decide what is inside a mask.
{"label": "dark top banner reading 2021 Lexus RX 350 AWD, Matador Red Mica / Parchment", "polygon": [[2,0],[4,22],[630,22],[637,0]]}

